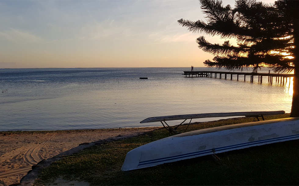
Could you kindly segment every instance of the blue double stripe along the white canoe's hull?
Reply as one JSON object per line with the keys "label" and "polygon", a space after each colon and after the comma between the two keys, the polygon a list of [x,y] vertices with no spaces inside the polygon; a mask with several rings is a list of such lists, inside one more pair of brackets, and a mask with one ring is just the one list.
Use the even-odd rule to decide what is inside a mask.
{"label": "blue double stripe along the white canoe's hull", "polygon": [[299,134],[265,139],[265,140],[259,140],[259,141],[252,141],[252,142],[247,142],[247,143],[240,143],[240,144],[236,144],[236,145],[229,145],[229,146],[218,147],[218,148],[208,149],[208,150],[203,150],[203,151],[190,152],[190,153],[176,155],[176,156],[168,156],[165,158],[140,161],[138,166],[152,164],[152,163],[159,163],[159,162],[169,161],[169,160],[174,160],[174,159],[182,159],[182,158],[191,157],[191,156],[198,156],[198,155],[208,154],[208,153],[216,152],[216,151],[223,151],[223,150],[228,150],[228,149],[233,149],[233,148],[240,148],[240,147],[245,147],[245,146],[250,146],[250,145],[257,145],[257,144],[262,144],[262,143],[268,143],[268,142],[286,140],[286,139],[294,139],[294,138],[299,138]]}

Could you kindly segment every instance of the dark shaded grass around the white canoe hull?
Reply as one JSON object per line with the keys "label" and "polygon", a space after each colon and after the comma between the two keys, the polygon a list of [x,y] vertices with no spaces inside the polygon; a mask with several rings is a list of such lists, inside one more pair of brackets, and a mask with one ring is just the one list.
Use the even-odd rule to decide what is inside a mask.
{"label": "dark shaded grass around the white canoe hull", "polygon": [[[266,116],[265,120],[289,117]],[[182,126],[192,131],[253,118],[233,118]],[[120,171],[126,153],[151,141],[168,137],[165,129],[138,137],[87,148],[44,168],[35,185],[55,184],[57,177],[87,181],[92,185],[298,185],[299,140],[224,152],[215,162],[211,156],[132,171]]]}

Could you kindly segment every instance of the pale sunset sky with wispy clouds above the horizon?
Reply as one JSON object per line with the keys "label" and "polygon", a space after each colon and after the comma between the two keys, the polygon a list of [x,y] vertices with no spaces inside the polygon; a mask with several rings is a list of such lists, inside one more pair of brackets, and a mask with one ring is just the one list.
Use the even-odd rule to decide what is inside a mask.
{"label": "pale sunset sky with wispy clouds above the horizon", "polygon": [[199,1],[0,1],[0,68],[202,67],[181,18],[205,20]]}

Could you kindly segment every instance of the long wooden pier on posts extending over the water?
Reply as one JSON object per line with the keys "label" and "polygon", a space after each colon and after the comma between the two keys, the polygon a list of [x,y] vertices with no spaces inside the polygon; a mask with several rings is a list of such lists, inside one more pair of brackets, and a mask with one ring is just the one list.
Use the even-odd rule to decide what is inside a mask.
{"label": "long wooden pier on posts extending over the water", "polygon": [[[213,75],[214,74],[214,75]],[[280,84],[284,84],[287,81],[287,78],[294,77],[294,74],[290,73],[248,73],[248,72],[221,72],[221,71],[184,71],[183,75],[186,77],[214,77],[217,78],[219,74],[219,78],[222,79],[222,75],[224,75],[224,79],[227,79],[227,75],[230,74],[230,79],[232,80],[232,76],[236,75],[237,80],[239,80],[239,76],[244,76],[244,81],[246,81],[246,76],[250,76],[250,82],[253,82],[254,76],[258,76],[258,82],[263,82],[263,77],[268,77],[268,83],[273,83],[273,77],[275,78],[276,82],[280,82]],[[280,81],[279,81],[280,79]]]}

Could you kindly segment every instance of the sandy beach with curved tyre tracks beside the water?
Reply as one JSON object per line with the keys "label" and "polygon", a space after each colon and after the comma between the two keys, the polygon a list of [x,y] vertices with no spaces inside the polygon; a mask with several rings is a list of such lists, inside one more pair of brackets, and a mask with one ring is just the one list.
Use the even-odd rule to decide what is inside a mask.
{"label": "sandy beach with curved tyre tracks beside the water", "polygon": [[160,127],[0,133],[0,185],[19,183],[32,165],[81,143],[158,128]]}

